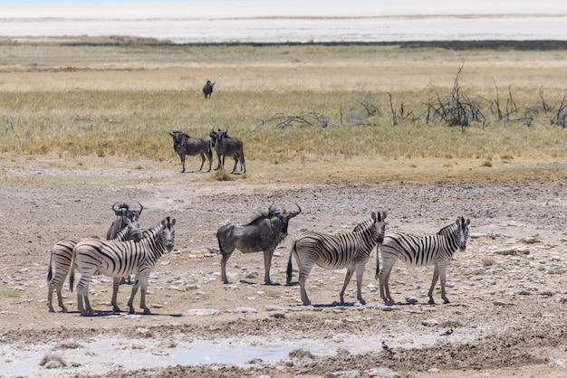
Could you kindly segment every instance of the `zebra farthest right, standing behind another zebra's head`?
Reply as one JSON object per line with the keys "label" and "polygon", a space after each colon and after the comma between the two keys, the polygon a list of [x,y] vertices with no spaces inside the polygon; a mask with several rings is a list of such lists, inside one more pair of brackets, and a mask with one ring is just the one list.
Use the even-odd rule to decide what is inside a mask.
{"label": "zebra farthest right, standing behind another zebra's head", "polygon": [[382,255],[382,263],[384,265],[379,273],[377,267],[377,276],[380,278],[380,298],[384,300],[387,306],[391,306],[394,299],[389,294],[389,273],[394,266],[396,260],[401,260],[410,266],[424,267],[435,266],[433,271],[433,281],[429,288],[429,304],[435,305],[433,300],[433,288],[437,284],[437,279],[441,277],[441,298],[445,303],[449,303],[449,299],[445,294],[445,282],[447,275],[447,266],[449,261],[453,259],[453,253],[457,249],[466,250],[466,237],[468,236],[468,225],[470,219],[459,217],[456,222],[442,228],[435,235],[414,236],[403,232],[391,232],[384,237],[382,245],[380,245],[380,253]]}

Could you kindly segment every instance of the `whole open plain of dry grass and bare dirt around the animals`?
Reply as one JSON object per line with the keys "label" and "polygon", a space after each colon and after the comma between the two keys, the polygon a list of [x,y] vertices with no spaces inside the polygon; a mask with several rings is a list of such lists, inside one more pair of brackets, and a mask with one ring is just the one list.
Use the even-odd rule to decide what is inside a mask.
{"label": "whole open plain of dry grass and bare dirt around the animals", "polygon": [[[563,50],[0,41],[0,376],[567,375],[565,90]],[[168,132],[218,128],[244,141],[246,173],[187,156],[181,174]],[[67,285],[70,311],[48,312],[53,244],[104,237],[116,202],[142,203],[144,229],[177,220],[152,314],[127,313],[130,285],[113,312],[102,276],[94,316]],[[216,230],[272,204],[303,210],[274,252],[276,285],[262,253],[237,250],[224,284]],[[428,305],[431,267],[397,262],[385,306],[374,250],[366,305],[355,278],[338,305],[345,271],[314,268],[302,306],[285,285],[293,239],[384,210],[387,233],[470,219],[450,303],[437,284]]]}

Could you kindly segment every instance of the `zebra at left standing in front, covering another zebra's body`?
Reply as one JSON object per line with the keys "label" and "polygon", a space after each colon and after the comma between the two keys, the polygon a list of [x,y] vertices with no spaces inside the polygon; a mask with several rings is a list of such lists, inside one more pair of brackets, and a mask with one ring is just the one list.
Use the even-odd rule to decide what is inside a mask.
{"label": "zebra at left standing in front, covering another zebra's body", "polygon": [[[141,288],[139,307],[144,309],[144,314],[150,314],[149,308],[146,307],[149,273],[166,251],[173,250],[175,242],[174,225],[175,219],[167,217],[144,232],[147,236],[138,242],[101,241],[97,239],[79,241],[73,249],[73,260],[77,264],[77,269],[81,271],[81,279],[77,284],[77,307],[81,311],[81,315],[94,314],[89,303],[89,283],[96,271],[114,279],[120,279],[128,274],[136,274],[136,281],[128,300],[129,313],[134,314],[135,312],[133,301],[138,289]],[[69,278],[71,287],[73,281],[74,269],[71,270]]]}

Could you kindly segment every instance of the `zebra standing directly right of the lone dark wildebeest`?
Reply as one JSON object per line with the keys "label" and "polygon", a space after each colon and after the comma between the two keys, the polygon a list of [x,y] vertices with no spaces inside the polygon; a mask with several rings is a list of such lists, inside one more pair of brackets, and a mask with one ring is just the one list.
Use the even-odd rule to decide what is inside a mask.
{"label": "zebra standing directly right of the lone dark wildebeest", "polygon": [[344,291],[356,271],[357,299],[365,305],[362,298],[362,274],[371,250],[380,244],[386,231],[386,212],[372,213],[372,222],[356,232],[329,234],[322,232],[303,232],[294,242],[287,263],[287,284],[292,280],[292,256],[295,257],[299,271],[299,286],[303,306],[311,305],[305,292],[305,281],[315,264],[323,269],[347,269],[341,290],[341,305],[344,305]]}

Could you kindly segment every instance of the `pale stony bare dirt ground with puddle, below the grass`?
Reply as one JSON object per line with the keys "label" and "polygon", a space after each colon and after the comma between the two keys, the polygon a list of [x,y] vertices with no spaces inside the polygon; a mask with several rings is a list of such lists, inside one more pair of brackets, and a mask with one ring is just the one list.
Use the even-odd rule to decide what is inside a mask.
{"label": "pale stony bare dirt ground with puddle, below the grass", "polygon": [[[2,171],[14,184],[0,184],[0,376],[567,376],[562,183],[264,184],[181,175],[177,165],[149,171],[5,160]],[[72,311],[49,313],[53,243],[104,236],[116,201],[143,203],[143,228],[177,219],[176,249],[149,283],[152,315],[112,313],[111,279],[102,277],[91,282],[98,315],[81,317],[67,287]],[[303,207],[275,252],[272,279],[282,285],[262,284],[261,253],[238,251],[227,267],[232,283],[224,285],[216,229],[247,222],[271,203]],[[471,219],[467,249],[456,252],[447,273],[451,303],[440,304],[437,286],[438,304],[427,304],[431,268],[397,263],[392,295],[417,303],[384,306],[374,252],[364,275],[366,306],[356,303],[355,279],[348,306],[333,306],[344,271],[317,268],[307,281],[314,306],[301,306],[299,289],[284,285],[293,238],[303,230],[349,231],[376,210],[389,212],[389,231],[418,234],[457,216]],[[130,286],[120,287],[123,310],[129,294]]]}

